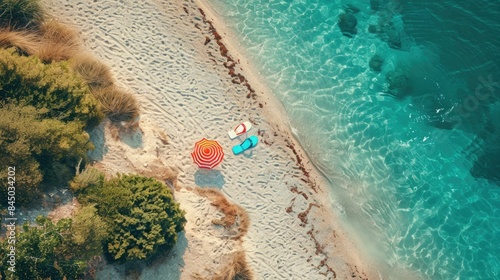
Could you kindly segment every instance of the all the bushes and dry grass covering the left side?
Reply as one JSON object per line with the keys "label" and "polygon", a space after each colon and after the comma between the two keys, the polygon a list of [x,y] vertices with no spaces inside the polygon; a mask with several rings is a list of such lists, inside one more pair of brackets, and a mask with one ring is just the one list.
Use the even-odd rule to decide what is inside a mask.
{"label": "all the bushes and dry grass covering the left side", "polygon": [[[39,216],[16,229],[15,274],[6,269],[11,244],[0,238],[1,279],[81,279],[101,254],[143,260],[175,244],[186,219],[164,184],[136,175],[106,180],[88,166],[87,131],[104,117],[136,125],[139,103],[38,0],[0,0],[0,116],[0,169],[17,167],[16,209],[54,185],[69,185],[83,205],[71,218]],[[5,183],[0,200],[8,201]]]}

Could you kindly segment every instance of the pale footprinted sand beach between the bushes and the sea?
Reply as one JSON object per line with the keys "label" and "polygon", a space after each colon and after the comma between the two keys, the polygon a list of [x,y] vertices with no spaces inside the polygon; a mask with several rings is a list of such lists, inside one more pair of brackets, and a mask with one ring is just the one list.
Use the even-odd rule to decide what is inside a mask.
{"label": "pale footprinted sand beach between the bushes and the sea", "polygon": [[[85,46],[141,102],[142,133],[131,133],[120,142],[109,131],[104,133],[104,125],[94,131],[98,149],[93,156],[99,165],[110,173],[158,173],[159,166],[174,166],[171,171],[179,174],[183,188],[176,197],[188,213],[185,234],[168,257],[143,268],[141,279],[192,279],[195,273],[216,269],[211,263],[238,246],[246,251],[256,279],[332,279],[332,271],[338,279],[379,277],[335,222],[324,193],[327,186],[291,136],[281,105],[252,75],[251,65],[232,47],[236,44],[224,39],[229,54],[241,61],[236,73],[256,90],[255,98],[247,98],[247,87],[231,81],[223,66],[226,58],[198,5],[218,33],[228,36],[209,8],[174,0],[45,3],[59,20],[81,31]],[[207,37],[210,42],[205,45]],[[239,141],[231,141],[226,131],[245,120],[254,124],[249,134],[259,133],[261,142],[250,153],[234,156],[231,147]],[[167,141],[160,139],[162,133]],[[226,153],[223,163],[206,173],[190,157],[193,144],[202,137],[219,141]],[[317,193],[287,143],[295,146],[303,170],[311,172]],[[208,224],[197,224],[200,215],[209,221],[219,214],[185,189],[196,183],[218,186],[248,211],[251,226],[242,244],[228,243]],[[304,212],[308,207],[310,212]],[[209,278],[211,272],[206,273]],[[106,266],[98,276],[125,277],[118,266]]]}

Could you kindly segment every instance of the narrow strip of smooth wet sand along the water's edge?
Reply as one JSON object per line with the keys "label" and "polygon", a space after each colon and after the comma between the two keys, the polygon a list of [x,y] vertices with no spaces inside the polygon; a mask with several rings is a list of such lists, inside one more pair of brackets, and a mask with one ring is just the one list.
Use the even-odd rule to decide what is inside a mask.
{"label": "narrow strip of smooth wet sand along the water's edge", "polygon": [[[354,240],[352,240],[349,236],[347,236],[346,230],[344,228],[345,225],[341,224],[339,221],[340,217],[338,215],[340,213],[338,212],[338,210],[334,209],[334,205],[332,205],[332,201],[330,200],[331,191],[328,189],[330,182],[322,174],[322,172],[314,164],[312,164],[308,154],[300,145],[299,140],[296,139],[295,135],[292,133],[290,125],[286,120],[287,115],[283,108],[282,103],[278,100],[278,98],[274,95],[274,93],[272,93],[272,90],[262,82],[262,78],[260,78],[259,75],[256,74],[258,73],[258,71],[252,65],[252,62],[244,56],[243,47],[241,46],[241,44],[235,44],[235,42],[237,41],[236,36],[232,34],[232,31],[226,27],[226,24],[224,23],[223,19],[221,19],[220,16],[219,17],[216,16],[217,12],[215,12],[212,5],[209,3],[210,1],[195,0],[195,2],[198,6],[200,6],[201,9],[203,9],[204,13],[207,15],[207,17],[212,22],[214,27],[216,27],[216,29],[219,30],[220,33],[224,34],[221,40],[224,42],[225,46],[229,50],[229,53],[235,55],[238,59],[238,62],[240,61],[244,62],[244,66],[241,68],[241,71],[243,72],[244,76],[248,79],[249,83],[252,85],[252,87],[255,88],[257,92],[263,94],[263,97],[266,98],[266,102],[269,102],[269,105],[264,107],[263,113],[269,118],[273,119],[273,123],[276,125],[276,127],[279,126],[285,127],[284,132],[287,134],[286,136],[288,137],[288,139],[285,139],[285,141],[286,140],[291,141],[291,143],[286,142],[287,147],[290,148],[293,154],[297,157],[296,162],[298,165],[301,166],[302,172],[308,178],[309,182],[307,182],[307,184],[317,194],[316,198],[318,198],[321,201],[320,205],[326,208],[322,209],[324,211],[320,213],[315,213],[315,215],[313,215],[313,221],[314,221],[313,223],[322,223],[321,227],[322,230],[320,231],[333,228],[334,231],[333,236],[335,239],[339,238],[339,236],[342,236],[341,237],[342,240],[340,241],[341,244],[339,244],[338,247],[336,245],[335,246],[336,248],[333,249],[337,251],[336,253],[338,253],[339,251],[343,251],[343,257],[341,257],[341,259],[345,260],[346,263],[350,262],[355,263],[354,265],[354,267],[356,268],[355,270],[357,270],[357,267],[362,267],[363,268],[362,270],[365,270],[364,277],[366,277],[366,279],[382,279],[381,275],[382,272],[375,268],[380,264],[374,264],[368,262],[366,253],[362,253],[361,250],[354,243]],[[266,109],[266,107],[268,109]],[[272,109],[269,110],[269,108]],[[274,109],[277,110],[272,111]],[[317,191],[317,188],[319,188],[319,193]],[[300,193],[301,192],[298,192],[298,194]],[[325,194],[325,196],[323,196],[322,194]],[[313,204],[310,204],[308,206],[308,210],[306,210],[308,214],[309,210],[311,210],[311,205]],[[287,211],[289,209],[290,208],[288,208]],[[325,219],[325,216],[328,218]],[[316,240],[316,237],[314,236],[313,233],[311,233],[311,238],[315,241],[317,248],[321,246],[319,242]],[[323,235],[320,238],[322,239],[321,242],[323,244],[332,241],[331,236],[328,235]],[[338,242],[339,240],[337,239],[335,241]],[[332,252],[329,252],[327,254],[332,254]],[[357,272],[359,273],[359,271]]]}

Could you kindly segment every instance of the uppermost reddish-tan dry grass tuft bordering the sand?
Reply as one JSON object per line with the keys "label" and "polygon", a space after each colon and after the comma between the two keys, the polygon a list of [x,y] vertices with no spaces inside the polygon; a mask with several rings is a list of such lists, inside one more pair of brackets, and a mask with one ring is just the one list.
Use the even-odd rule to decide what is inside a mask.
{"label": "uppermost reddish-tan dry grass tuft bordering the sand", "polygon": [[43,62],[68,60],[80,50],[78,33],[67,25],[50,20],[41,25],[40,32],[37,55]]}

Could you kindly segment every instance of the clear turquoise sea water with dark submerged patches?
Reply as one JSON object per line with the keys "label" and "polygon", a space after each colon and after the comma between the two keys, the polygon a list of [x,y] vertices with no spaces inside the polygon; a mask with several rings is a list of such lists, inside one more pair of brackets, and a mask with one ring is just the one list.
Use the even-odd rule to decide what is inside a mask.
{"label": "clear turquoise sea water with dark submerged patches", "polygon": [[384,277],[499,279],[500,2],[378,2],[210,1]]}

